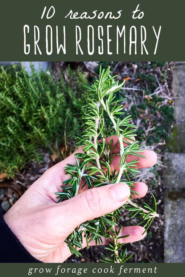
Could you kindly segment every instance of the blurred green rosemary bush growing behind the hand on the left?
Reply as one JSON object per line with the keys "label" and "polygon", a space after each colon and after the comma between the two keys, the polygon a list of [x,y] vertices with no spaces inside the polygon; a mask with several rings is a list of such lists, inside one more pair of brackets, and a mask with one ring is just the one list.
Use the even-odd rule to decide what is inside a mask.
{"label": "blurred green rosemary bush growing behind the hand on the left", "polygon": [[31,77],[21,68],[1,67],[0,72],[0,172],[13,177],[30,160],[39,160],[39,148],[75,135],[79,112],[77,98],[84,91],[84,75],[66,70],[55,82],[50,73]]}

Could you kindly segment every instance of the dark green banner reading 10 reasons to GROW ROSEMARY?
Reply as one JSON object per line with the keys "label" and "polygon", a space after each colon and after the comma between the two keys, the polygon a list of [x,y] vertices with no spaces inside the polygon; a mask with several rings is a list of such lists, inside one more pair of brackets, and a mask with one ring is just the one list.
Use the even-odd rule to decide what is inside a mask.
{"label": "dark green banner reading 10 reasons to GROW ROSEMARY", "polygon": [[2,61],[184,60],[184,1],[1,1]]}

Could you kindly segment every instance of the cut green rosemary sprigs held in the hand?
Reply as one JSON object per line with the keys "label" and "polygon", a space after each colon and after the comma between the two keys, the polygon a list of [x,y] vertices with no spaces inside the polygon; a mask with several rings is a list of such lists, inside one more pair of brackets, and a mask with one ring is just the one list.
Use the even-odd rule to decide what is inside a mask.
{"label": "cut green rosemary sprigs held in the hand", "polygon": [[[99,79],[91,87],[86,87],[88,96],[85,100],[79,100],[84,130],[78,135],[76,146],[84,147],[84,153],[75,155],[76,165],[68,164],[65,168],[66,174],[70,175],[70,178],[63,182],[62,192],[55,193],[58,195],[58,202],[77,195],[81,183],[83,183],[82,187],[86,186],[90,189],[106,184],[124,182],[130,186],[131,196],[137,194],[131,187],[134,187],[134,183],[136,183],[132,178],[136,178],[139,172],[136,169],[138,159],[134,159],[130,163],[126,162],[126,159],[128,155],[143,156],[140,154],[142,151],[139,150],[138,141],[133,139],[136,127],[130,124],[131,116],[125,118],[122,116],[124,112],[119,102],[124,99],[115,100],[114,93],[121,89],[124,82],[119,85],[118,82],[114,81],[114,77],[110,75],[109,68],[105,71],[101,70],[100,67]],[[107,118],[111,122],[109,126],[106,126]],[[105,139],[112,130],[117,134],[117,143],[119,143],[119,152],[116,155],[121,157],[120,169],[117,174],[115,170],[111,171],[110,168],[113,160],[113,149],[117,144],[113,145],[112,140],[107,144]],[[129,143],[127,139],[133,143]],[[124,147],[123,142],[128,145]],[[116,211],[86,221],[76,227],[65,240],[71,253],[77,256],[80,255],[77,247],[82,248],[84,239],[87,245],[90,241],[96,241],[97,244],[100,244],[102,242],[101,236],[104,236],[109,240],[106,249],[112,251],[112,255],[108,254],[109,257],[105,258],[104,261],[123,263],[128,260],[131,255],[127,256],[127,250],[119,251],[124,244],[118,242],[119,238],[124,238],[124,236],[120,236],[122,227],[116,229],[115,226],[121,218],[121,210],[126,209],[130,211],[130,218],[135,216],[141,218],[139,224],[143,224],[143,227],[146,227],[147,230],[154,218],[158,216],[155,198],[154,209],[144,202],[143,204],[144,208],[139,207],[129,198],[128,202]]]}

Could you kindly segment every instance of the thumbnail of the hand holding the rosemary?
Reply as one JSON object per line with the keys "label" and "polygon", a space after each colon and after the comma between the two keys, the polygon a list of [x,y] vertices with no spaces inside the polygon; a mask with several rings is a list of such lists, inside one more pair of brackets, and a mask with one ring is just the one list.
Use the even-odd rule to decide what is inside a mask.
{"label": "thumbnail of the hand holding the rosemary", "polygon": [[124,201],[130,196],[130,188],[125,183],[115,184],[109,187],[110,193],[117,202]]}

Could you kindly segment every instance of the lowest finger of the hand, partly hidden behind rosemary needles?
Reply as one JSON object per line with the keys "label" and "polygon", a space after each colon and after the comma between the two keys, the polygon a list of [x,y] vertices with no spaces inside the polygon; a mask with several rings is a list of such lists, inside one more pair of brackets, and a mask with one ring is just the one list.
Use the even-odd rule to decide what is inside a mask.
{"label": "lowest finger of the hand, partly hidden behind rosemary needles", "polygon": [[[129,235],[129,237],[118,239],[118,242],[119,243],[133,243],[135,241],[144,239],[144,237],[146,236],[146,232],[144,233],[144,231],[145,231],[145,228],[143,228],[142,226],[123,227],[121,229],[119,237],[127,236],[127,235]],[[106,240],[104,237],[102,237],[102,241],[103,241],[103,243],[102,243],[103,245],[109,244],[109,240]],[[90,242],[89,245],[90,246],[96,245],[96,242],[95,241]],[[86,243],[84,242],[84,247],[85,246],[86,246]]]}

